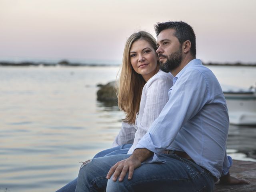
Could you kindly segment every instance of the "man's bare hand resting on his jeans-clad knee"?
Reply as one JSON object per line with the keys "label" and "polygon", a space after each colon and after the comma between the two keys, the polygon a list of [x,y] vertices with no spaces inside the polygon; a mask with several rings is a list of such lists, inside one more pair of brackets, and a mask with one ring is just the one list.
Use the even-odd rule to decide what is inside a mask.
{"label": "man's bare hand resting on his jeans-clad knee", "polygon": [[113,181],[116,181],[119,176],[118,180],[121,182],[126,176],[126,173],[129,172],[128,179],[132,179],[134,170],[140,167],[141,163],[152,156],[152,154],[153,152],[147,150],[146,148],[136,149],[129,158],[114,164],[114,166],[110,168],[106,178],[110,179],[110,177],[113,175]]}

